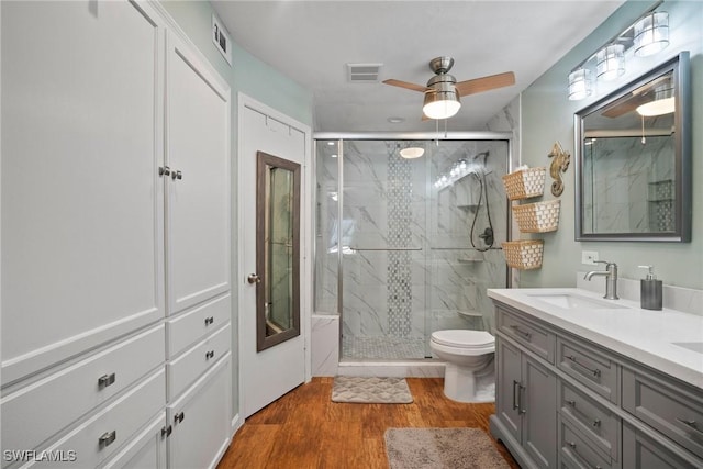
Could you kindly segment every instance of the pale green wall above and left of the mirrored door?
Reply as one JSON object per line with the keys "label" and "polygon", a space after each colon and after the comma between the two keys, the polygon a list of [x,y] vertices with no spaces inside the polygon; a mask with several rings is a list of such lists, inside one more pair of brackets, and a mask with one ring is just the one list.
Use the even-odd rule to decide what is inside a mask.
{"label": "pale green wall above and left of the mirrored door", "polygon": [[[237,258],[237,93],[248,97],[312,127],[312,93],[284,77],[267,64],[257,59],[237,44],[232,43],[232,66],[227,64],[213,44],[210,31],[212,13],[207,1],[161,1],[165,10],[174,18],[190,41],[208,58],[210,64],[230,83],[232,88],[232,284],[236,280]],[[238,371],[238,312],[237,289],[232,289],[232,416],[239,412],[239,371]]]}

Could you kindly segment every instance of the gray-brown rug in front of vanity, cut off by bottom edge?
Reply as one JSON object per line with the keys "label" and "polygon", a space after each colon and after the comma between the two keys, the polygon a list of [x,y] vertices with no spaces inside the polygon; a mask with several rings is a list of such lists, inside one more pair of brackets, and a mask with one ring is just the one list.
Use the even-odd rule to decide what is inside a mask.
{"label": "gray-brown rug in front of vanity, cut off by bottom edge", "polygon": [[480,428],[389,428],[391,469],[510,469]]}

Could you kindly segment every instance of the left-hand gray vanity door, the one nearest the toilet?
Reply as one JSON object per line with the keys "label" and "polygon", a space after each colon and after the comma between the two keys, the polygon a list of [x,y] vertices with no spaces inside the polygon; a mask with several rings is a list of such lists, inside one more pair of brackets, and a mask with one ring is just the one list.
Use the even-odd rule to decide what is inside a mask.
{"label": "left-hand gray vanity door, the one nearest the toilet", "polygon": [[511,344],[496,337],[498,380],[496,413],[501,422],[515,437],[522,440],[522,353]]}

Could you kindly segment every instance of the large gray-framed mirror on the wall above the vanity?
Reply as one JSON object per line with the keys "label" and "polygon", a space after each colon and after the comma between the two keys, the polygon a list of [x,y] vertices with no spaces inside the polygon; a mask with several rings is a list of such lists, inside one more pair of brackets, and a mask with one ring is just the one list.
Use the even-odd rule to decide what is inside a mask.
{"label": "large gray-framed mirror on the wall above the vanity", "polygon": [[689,53],[574,119],[577,241],[691,239]]}

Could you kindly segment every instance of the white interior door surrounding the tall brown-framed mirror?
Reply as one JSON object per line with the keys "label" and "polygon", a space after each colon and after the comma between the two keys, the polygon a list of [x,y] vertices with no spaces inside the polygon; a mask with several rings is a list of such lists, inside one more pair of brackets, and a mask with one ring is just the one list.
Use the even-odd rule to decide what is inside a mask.
{"label": "white interior door surrounding the tall brown-framed mirror", "polygon": [[[261,109],[253,105],[239,108],[239,354],[241,412],[245,418],[305,380],[305,327],[300,335],[257,351],[255,276],[263,275],[257,271],[256,256],[257,153],[276,155],[301,166],[304,166],[306,153],[303,131],[284,122],[284,118],[271,118]],[[302,202],[299,203],[302,209]],[[301,250],[303,237],[297,241]],[[304,279],[302,270],[299,273]]]}

